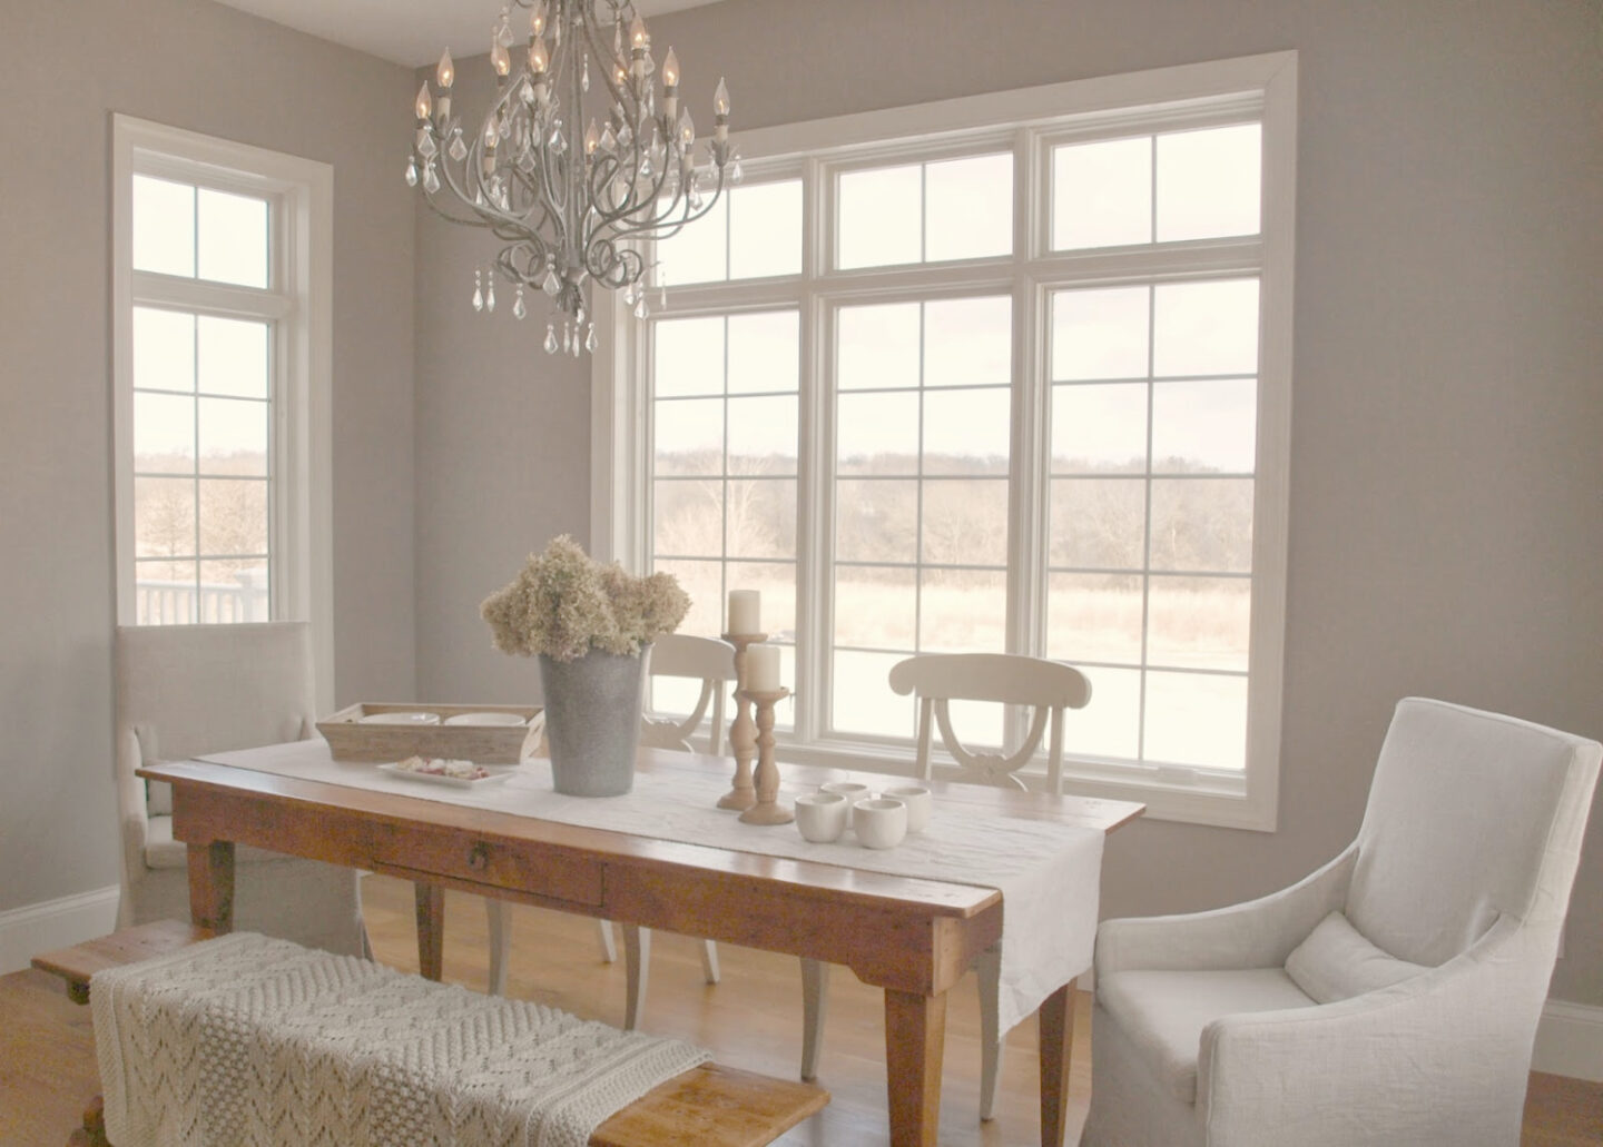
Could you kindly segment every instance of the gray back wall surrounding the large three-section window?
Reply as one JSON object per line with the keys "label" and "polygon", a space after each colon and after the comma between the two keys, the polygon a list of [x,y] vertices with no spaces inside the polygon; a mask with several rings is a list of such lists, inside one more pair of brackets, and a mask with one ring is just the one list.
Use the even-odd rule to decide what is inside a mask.
{"label": "gray back wall surrounding the large three-section window", "polygon": [[[1281,827],[1120,831],[1106,913],[1228,904],[1332,855],[1399,697],[1603,735],[1598,21],[1595,0],[741,0],[652,22],[691,107],[728,77],[736,131],[1302,53]],[[588,521],[585,372],[545,359],[543,324],[471,314],[487,252],[418,216],[418,678],[442,700],[532,695],[476,604]],[[1553,995],[1603,1004],[1603,815],[1566,947]]]}

